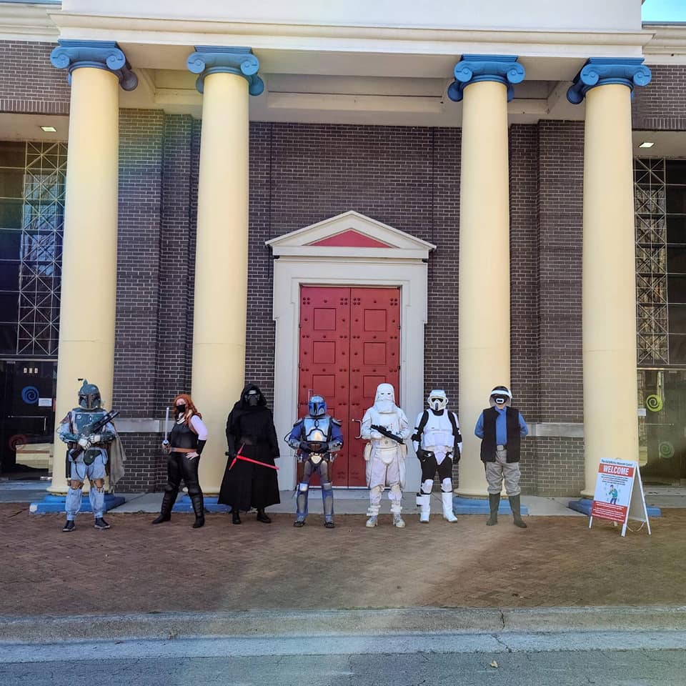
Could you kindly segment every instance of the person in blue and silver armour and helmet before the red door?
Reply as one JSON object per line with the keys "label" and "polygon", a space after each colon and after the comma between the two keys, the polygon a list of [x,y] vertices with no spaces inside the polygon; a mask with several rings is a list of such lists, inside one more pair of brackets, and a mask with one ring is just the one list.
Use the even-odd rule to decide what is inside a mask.
{"label": "person in blue and silver armour and helmet before the red door", "polygon": [[294,527],[302,527],[307,517],[309,481],[317,472],[322,483],[324,526],[334,528],[334,488],[332,462],[343,447],[341,422],[329,417],[327,402],[321,395],[313,395],[307,403],[307,417],[298,419],[287,439],[290,447],[297,450],[298,462],[304,462],[302,481],[298,484],[297,514]]}

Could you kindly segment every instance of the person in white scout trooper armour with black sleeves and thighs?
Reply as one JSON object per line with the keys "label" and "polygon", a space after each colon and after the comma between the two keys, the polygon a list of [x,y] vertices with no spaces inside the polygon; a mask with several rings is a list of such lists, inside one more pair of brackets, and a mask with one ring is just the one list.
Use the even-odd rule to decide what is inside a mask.
{"label": "person in white scout trooper armour with black sleeves and thighs", "polygon": [[462,435],[459,433],[457,414],[445,409],[448,399],[444,390],[433,390],[427,398],[428,409],[417,414],[412,442],[422,465],[422,486],[417,496],[421,507],[419,522],[429,522],[431,490],[434,474],[441,479],[443,518],[457,522],[452,512],[452,466],[459,462],[462,452]]}

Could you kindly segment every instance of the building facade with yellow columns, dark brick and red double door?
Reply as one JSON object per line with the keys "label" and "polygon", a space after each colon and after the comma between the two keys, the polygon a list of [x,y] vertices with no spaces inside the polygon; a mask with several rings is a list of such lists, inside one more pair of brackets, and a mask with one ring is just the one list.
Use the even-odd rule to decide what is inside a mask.
{"label": "building facade with yellow columns, dark brick and red double door", "polygon": [[[329,399],[339,487],[364,482],[355,422],[386,380],[409,417],[446,389],[467,496],[502,383],[525,492],[587,492],[606,455],[686,478],[686,26],[639,0],[392,24],[93,5],[0,3],[0,477],[66,489],[54,417],[87,377],[121,412],[121,490],[164,483],[161,420],[192,389],[216,492],[244,380],[280,435]],[[285,443],[280,464],[293,487]]]}

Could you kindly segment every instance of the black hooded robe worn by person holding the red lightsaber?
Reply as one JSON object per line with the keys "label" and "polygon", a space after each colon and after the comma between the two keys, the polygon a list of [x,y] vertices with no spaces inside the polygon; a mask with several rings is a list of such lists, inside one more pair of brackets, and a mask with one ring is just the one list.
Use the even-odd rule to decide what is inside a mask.
{"label": "black hooded robe worn by person holding the red lightsaber", "polygon": [[[250,390],[256,390],[259,393],[257,407],[249,407],[245,402],[245,396]],[[242,441],[246,438],[252,445]],[[229,414],[227,443],[230,456],[217,502],[231,505],[232,509],[244,512],[251,507],[264,509],[281,502],[276,469],[261,467],[259,464],[244,462],[242,459],[234,462],[239,449],[244,457],[272,466],[274,458],[279,457],[279,444],[277,431],[274,429],[272,410],[267,407],[262,391],[254,384],[247,384],[241,393],[241,398],[234,404],[234,409]],[[233,467],[232,462],[234,462]]]}

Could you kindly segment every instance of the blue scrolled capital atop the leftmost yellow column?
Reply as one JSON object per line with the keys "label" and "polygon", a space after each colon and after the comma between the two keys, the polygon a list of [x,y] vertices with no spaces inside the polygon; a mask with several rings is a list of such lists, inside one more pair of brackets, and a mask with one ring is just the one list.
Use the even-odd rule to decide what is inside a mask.
{"label": "blue scrolled capital atop the leftmost yellow column", "polygon": [[81,66],[111,71],[125,91],[132,91],[138,85],[138,76],[131,71],[126,55],[114,41],[65,41],[59,39],[59,46],[50,54],[52,66],[69,69],[66,77],[71,84],[71,72]]}

